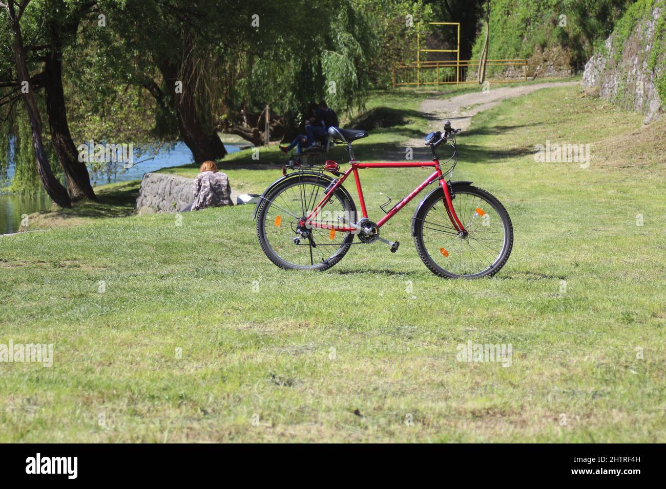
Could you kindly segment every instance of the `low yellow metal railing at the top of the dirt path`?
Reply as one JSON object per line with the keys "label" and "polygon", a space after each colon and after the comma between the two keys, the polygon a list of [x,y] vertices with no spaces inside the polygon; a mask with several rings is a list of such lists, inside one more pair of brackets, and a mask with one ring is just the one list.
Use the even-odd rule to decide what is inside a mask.
{"label": "low yellow metal railing at the top of the dirt path", "polygon": [[[422,50],[438,51],[444,50]],[[453,51],[446,51],[448,53]],[[458,52],[458,55],[460,53]],[[476,73],[478,73],[480,62],[474,59],[451,61],[420,61],[416,63],[407,63],[393,67],[393,88],[398,86],[422,86],[422,85],[440,85],[440,84],[462,84],[478,83]],[[516,71],[522,71],[520,77],[507,76],[504,70],[504,77],[487,78],[490,83],[512,83],[527,81],[527,60],[525,59],[489,59],[487,67],[516,67]],[[522,68],[522,70],[520,70]],[[468,80],[468,73],[475,74]]]}

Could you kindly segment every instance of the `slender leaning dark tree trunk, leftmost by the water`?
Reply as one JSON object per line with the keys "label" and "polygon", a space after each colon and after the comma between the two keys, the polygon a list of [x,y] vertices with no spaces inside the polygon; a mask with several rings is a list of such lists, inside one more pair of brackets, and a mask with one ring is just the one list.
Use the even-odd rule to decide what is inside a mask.
{"label": "slender leaning dark tree trunk, leftmost by the water", "polygon": [[[23,97],[25,109],[30,118],[37,173],[39,174],[39,178],[41,179],[47,194],[51,197],[51,200],[53,200],[58,206],[71,207],[72,201],[69,198],[69,195],[67,195],[67,190],[65,190],[65,187],[63,187],[53,175],[51,165],[49,164],[49,158],[44,150],[41,116],[39,115],[37,98],[35,98],[35,89],[30,82],[30,75],[25,64],[25,49],[23,47],[23,37],[21,36],[21,26],[19,25],[19,21],[21,19],[23,8],[25,8],[27,2],[22,4],[23,8],[19,10],[19,15],[15,13],[14,2],[9,0],[8,3],[9,8],[7,8],[7,11],[9,12],[9,23],[11,25],[11,30],[14,33],[14,59],[16,63],[17,80],[19,81],[19,86],[21,86],[21,96]],[[27,90],[24,89],[24,85],[27,85]]]}

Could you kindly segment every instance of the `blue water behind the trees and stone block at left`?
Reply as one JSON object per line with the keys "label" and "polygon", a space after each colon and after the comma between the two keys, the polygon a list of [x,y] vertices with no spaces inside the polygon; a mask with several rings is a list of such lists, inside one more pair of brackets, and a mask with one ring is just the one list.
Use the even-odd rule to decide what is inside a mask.
{"label": "blue water behind the trees and stone block at left", "polygon": [[[240,148],[233,144],[224,144],[226,150],[235,153]],[[151,158],[151,159],[148,159]],[[127,182],[129,180],[141,180],[143,175],[149,172],[155,172],[160,168],[170,168],[172,166],[182,166],[192,163],[192,152],[183,143],[178,142],[171,150],[161,150],[153,158],[153,154],[144,154],[139,156],[135,154],[134,166],[129,169],[109,166],[109,171],[91,172],[91,182],[93,185],[111,184],[114,182]],[[53,164],[53,162],[51,162]],[[56,163],[57,164],[57,163]],[[11,184],[14,176],[13,165],[7,170]],[[0,182],[0,188],[5,186]],[[40,210],[51,207],[51,199],[46,195],[39,196],[19,196],[12,194],[0,194],[0,234],[15,233],[19,230],[21,219],[25,219],[27,214],[32,214]]]}

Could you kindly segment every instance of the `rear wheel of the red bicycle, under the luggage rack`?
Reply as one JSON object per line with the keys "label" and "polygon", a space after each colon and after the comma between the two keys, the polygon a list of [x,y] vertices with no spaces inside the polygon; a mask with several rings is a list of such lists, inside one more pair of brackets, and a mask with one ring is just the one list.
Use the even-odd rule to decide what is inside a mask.
{"label": "rear wheel of the red bicycle, under the luggage rack", "polygon": [[[264,196],[257,212],[256,233],[270,261],[284,269],[325,270],[342,259],[354,235],[318,226],[299,226],[326,194],[328,178],[294,176]],[[342,188],[336,189],[313,224],[340,226],[338,216],[356,215],[356,206]],[[302,232],[307,238],[303,237]],[[296,238],[296,239],[294,239]]]}

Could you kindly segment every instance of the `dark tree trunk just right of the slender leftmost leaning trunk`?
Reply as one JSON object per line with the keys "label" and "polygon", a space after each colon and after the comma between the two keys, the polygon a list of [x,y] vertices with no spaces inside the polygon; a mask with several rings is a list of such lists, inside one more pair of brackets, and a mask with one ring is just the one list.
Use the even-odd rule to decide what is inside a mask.
{"label": "dark tree trunk just right of the slender leftmost leaning trunk", "polygon": [[46,111],[51,128],[51,140],[58,155],[70,198],[97,200],[85,163],[79,161],[79,152],[72,140],[67,123],[67,108],[63,92],[63,60],[59,47],[47,53],[45,65]]}

